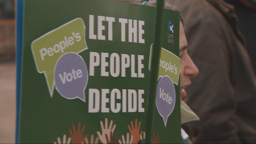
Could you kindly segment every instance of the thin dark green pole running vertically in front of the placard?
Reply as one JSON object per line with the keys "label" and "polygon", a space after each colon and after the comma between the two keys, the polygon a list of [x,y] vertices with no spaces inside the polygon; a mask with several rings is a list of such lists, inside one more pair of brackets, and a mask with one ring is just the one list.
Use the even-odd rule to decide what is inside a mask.
{"label": "thin dark green pole running vertically in front of the placard", "polygon": [[154,31],[154,46],[152,50],[152,62],[151,62],[151,74],[150,74],[150,87],[148,95],[148,109],[147,109],[147,122],[146,122],[146,143],[151,143],[152,125],[153,125],[153,112],[154,103],[156,99],[156,86],[158,79],[158,68],[159,68],[159,58],[161,50],[161,22],[162,22],[162,12],[164,7],[163,0],[157,0],[156,9],[156,24]]}

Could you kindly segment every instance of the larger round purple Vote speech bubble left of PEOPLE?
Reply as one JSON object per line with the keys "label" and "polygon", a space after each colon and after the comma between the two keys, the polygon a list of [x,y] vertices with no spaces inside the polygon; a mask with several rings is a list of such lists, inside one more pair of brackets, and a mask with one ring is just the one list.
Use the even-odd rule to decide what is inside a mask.
{"label": "larger round purple Vote speech bubble left of PEOPLE", "polygon": [[79,98],[85,102],[84,89],[88,82],[88,71],[80,55],[74,52],[62,55],[54,68],[54,81],[62,97]]}

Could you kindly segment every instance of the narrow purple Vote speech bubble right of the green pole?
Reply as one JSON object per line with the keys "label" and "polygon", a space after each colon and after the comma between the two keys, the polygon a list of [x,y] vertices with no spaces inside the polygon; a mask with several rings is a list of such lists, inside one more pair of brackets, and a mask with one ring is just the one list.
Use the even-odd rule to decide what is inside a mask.
{"label": "narrow purple Vote speech bubble right of the green pole", "polygon": [[167,119],[175,106],[175,88],[172,79],[163,76],[157,84],[156,107],[158,113],[163,117],[166,127]]}

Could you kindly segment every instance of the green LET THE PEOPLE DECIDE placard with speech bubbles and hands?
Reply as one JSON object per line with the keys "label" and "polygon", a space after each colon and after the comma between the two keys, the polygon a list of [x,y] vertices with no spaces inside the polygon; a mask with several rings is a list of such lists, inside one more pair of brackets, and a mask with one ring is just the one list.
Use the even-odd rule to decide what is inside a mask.
{"label": "green LET THE PEOPLE DECIDE placard with speech bubbles and hands", "polygon": [[[113,1],[25,0],[18,142],[143,139],[155,12]],[[163,10],[152,126],[160,143],[181,140],[179,15]]]}

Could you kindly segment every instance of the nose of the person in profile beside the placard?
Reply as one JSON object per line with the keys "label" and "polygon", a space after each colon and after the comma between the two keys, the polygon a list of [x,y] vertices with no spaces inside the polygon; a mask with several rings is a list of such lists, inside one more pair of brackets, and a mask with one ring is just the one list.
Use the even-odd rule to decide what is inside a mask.
{"label": "nose of the person in profile beside the placard", "polygon": [[188,56],[188,63],[185,67],[184,74],[189,77],[195,77],[199,73],[198,68],[196,67],[195,63],[191,60],[191,58]]}

